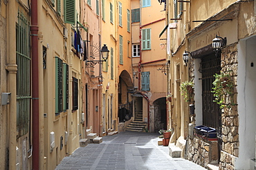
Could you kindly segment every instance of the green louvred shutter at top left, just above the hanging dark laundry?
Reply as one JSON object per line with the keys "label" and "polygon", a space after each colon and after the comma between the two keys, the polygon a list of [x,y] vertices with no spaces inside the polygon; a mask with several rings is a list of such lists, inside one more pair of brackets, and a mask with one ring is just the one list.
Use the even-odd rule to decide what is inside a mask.
{"label": "green louvred shutter at top left, just above the hanging dark laundry", "polygon": [[64,22],[75,25],[75,0],[64,0]]}

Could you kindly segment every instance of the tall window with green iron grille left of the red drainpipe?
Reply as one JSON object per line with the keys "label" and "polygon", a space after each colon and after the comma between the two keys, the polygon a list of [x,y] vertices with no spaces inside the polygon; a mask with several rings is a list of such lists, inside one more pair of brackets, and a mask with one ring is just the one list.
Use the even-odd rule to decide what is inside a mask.
{"label": "tall window with green iron grille left of the red drainpipe", "polygon": [[17,62],[17,132],[18,138],[28,133],[30,122],[30,30],[29,20],[18,12],[16,25]]}

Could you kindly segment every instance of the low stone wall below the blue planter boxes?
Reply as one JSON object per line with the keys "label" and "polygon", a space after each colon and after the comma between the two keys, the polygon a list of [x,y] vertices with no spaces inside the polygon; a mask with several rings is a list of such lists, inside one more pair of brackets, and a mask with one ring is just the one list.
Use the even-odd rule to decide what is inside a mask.
{"label": "low stone wall below the blue planter boxes", "polygon": [[217,141],[203,140],[198,137],[189,139],[187,159],[207,168],[210,162],[218,160]]}

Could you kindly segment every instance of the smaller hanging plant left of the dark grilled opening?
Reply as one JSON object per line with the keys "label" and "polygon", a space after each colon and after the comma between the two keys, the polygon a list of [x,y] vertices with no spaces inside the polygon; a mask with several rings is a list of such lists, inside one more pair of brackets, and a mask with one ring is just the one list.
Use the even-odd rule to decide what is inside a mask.
{"label": "smaller hanging plant left of the dark grilled opening", "polygon": [[181,83],[180,90],[184,100],[191,103],[194,94],[194,83],[192,81],[185,81]]}

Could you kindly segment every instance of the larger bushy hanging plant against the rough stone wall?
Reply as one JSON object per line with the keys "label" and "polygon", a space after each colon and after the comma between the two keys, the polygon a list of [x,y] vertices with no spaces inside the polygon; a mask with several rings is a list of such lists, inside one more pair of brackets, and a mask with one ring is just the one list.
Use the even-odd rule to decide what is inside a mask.
{"label": "larger bushy hanging plant against the rough stone wall", "polygon": [[[226,105],[230,107],[230,105],[235,105],[233,103],[232,94],[234,94],[234,82],[232,80],[232,76],[230,74],[222,73],[214,74],[215,81],[212,83],[214,87],[212,87],[212,93],[214,96],[214,102],[219,104],[219,107],[223,109]],[[230,102],[225,103],[226,95],[231,96]]]}

